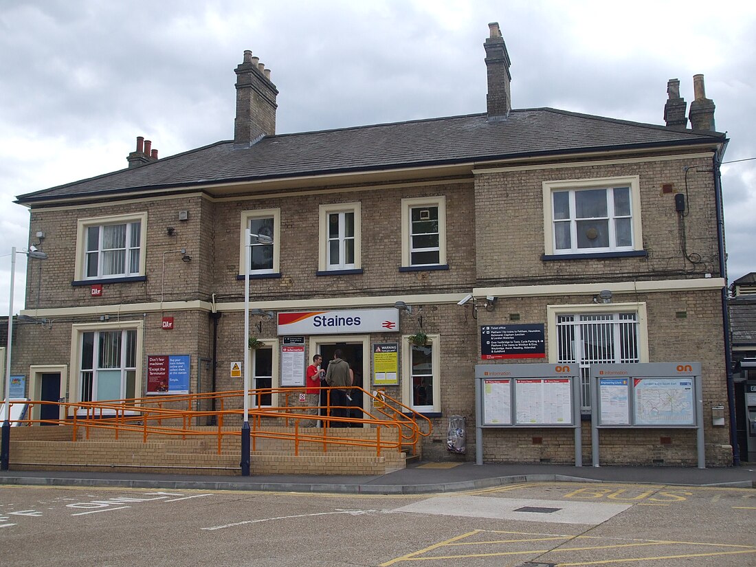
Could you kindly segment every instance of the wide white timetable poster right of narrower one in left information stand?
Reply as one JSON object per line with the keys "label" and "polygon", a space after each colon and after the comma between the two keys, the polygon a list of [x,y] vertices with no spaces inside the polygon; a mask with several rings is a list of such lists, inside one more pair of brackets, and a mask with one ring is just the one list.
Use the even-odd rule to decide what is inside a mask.
{"label": "wide white timetable poster right of narrower one in left information stand", "polygon": [[522,425],[572,423],[569,378],[515,380],[516,420]]}

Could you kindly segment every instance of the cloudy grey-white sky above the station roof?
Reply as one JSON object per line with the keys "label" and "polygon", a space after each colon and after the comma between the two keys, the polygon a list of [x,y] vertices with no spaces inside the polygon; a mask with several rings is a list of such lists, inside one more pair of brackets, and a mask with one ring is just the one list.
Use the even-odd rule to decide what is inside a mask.
{"label": "cloudy grey-white sky above the station roof", "polygon": [[457,116],[485,112],[494,21],[514,108],[663,125],[668,79],[689,104],[702,73],[730,138],[730,282],[756,271],[756,2],[0,0],[0,315],[11,247],[37,244],[16,196],[122,169],[138,135],[161,158],[233,138],[245,49],[271,69],[280,134]]}

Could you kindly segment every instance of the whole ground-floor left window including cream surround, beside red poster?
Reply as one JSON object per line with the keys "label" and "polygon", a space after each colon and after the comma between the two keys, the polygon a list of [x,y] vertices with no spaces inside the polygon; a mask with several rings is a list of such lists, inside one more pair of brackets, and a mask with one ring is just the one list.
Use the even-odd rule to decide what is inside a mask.
{"label": "whole ground-floor left window including cream surround, beside red poster", "polygon": [[141,397],[141,321],[72,327],[78,401]]}

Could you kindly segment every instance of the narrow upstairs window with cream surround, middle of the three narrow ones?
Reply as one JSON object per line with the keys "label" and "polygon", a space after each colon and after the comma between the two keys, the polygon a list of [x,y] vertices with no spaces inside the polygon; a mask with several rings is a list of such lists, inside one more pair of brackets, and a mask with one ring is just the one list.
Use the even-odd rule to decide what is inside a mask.
{"label": "narrow upstairs window with cream surround, middle of the three narrow ones", "polygon": [[319,220],[318,271],[361,269],[361,203],[321,205]]}

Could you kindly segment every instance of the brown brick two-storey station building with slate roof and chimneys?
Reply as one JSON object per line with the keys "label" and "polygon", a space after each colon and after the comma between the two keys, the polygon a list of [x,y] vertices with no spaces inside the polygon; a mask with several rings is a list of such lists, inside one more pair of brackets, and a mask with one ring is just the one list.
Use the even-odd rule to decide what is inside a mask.
{"label": "brown brick two-storey station building with slate roof and chimneys", "polygon": [[[150,357],[172,356],[185,365],[181,391],[240,389],[230,369],[244,359],[249,250],[251,328],[263,343],[252,385],[299,376],[282,362],[296,336],[305,361],[341,348],[373,389],[373,347],[396,343],[396,384],[382,387],[432,418],[426,458],[460,458],[446,446],[452,415],[466,417],[466,458],[475,454],[474,367],[489,361],[481,329],[491,325],[543,329],[542,358],[507,362],[577,364],[584,380],[599,362],[699,361],[705,416],[729,414],[727,138],[703,77],[690,127],[677,79],[665,125],[516,109],[497,24],[484,46],[483,113],[287,135],[275,132],[270,72],[245,51],[233,140],[158,159],[138,138],[126,169],[18,197],[30,243],[49,256],[26,274],[23,314],[42,324],[20,322],[14,348],[29,397],[148,395],[166,387],[150,381]],[[272,243],[246,246],[247,229]],[[355,324],[372,319],[386,326]],[[418,331],[425,345],[408,340]],[[582,398],[590,413],[587,388]],[[730,429],[705,422],[707,464],[730,464]],[[564,429],[484,435],[487,462],[573,460]],[[696,463],[688,429],[612,430],[601,444],[603,463]]]}

